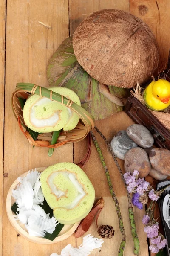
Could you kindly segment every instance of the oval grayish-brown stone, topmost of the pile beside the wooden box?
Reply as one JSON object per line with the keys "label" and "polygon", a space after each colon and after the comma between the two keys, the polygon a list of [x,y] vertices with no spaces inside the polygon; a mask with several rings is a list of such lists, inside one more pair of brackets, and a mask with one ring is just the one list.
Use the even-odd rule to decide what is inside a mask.
{"label": "oval grayish-brown stone, topmost of the pile beside the wooden box", "polygon": [[130,125],[127,130],[127,135],[137,145],[142,148],[150,148],[153,146],[154,139],[151,132],[143,125]]}

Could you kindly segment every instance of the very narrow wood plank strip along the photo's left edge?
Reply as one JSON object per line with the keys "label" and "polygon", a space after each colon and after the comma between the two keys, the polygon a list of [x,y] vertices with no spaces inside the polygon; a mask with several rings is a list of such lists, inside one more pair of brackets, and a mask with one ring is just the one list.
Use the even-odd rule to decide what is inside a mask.
{"label": "very narrow wood plank strip along the photo's left edge", "polygon": [[3,255],[3,122],[5,79],[6,1],[0,2],[0,256]]}

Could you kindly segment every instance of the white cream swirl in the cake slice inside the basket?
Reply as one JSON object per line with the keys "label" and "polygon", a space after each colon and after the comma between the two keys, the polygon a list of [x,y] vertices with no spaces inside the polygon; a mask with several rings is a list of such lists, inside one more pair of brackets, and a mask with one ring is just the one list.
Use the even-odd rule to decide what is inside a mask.
{"label": "white cream swirl in the cake slice inside the basket", "polygon": [[45,118],[44,119],[36,118],[34,108],[36,106],[45,105],[48,102],[52,102],[51,99],[42,98],[31,107],[30,121],[31,121],[32,125],[34,125],[34,127],[43,128],[43,127],[47,127],[47,126],[54,126],[59,121],[58,112],[55,112],[51,117],[46,118],[46,119]]}

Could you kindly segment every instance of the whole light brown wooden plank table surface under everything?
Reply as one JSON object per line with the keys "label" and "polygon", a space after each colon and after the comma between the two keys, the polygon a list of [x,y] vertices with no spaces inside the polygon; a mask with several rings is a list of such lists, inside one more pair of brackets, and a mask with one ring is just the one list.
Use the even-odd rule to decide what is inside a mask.
{"label": "whole light brown wooden plank table surface under everything", "polygon": [[[11,93],[17,82],[31,82],[48,86],[46,67],[59,44],[72,35],[81,20],[100,9],[122,9],[142,18],[153,30],[161,52],[160,67],[165,67],[170,47],[169,0],[1,0],[0,1],[0,256],[50,256],[60,253],[71,243],[81,244],[74,236],[53,245],[28,242],[13,229],[6,215],[6,195],[13,181],[28,169],[70,161],[77,163],[84,155],[86,140],[55,149],[48,157],[47,148],[33,148],[20,132],[11,110]],[[133,122],[124,113],[96,122],[102,133],[111,140],[119,130]],[[122,210],[127,244],[125,256],[133,255],[133,240],[127,212],[127,197],[111,154],[96,134],[112,177],[113,186]],[[73,158],[74,152],[74,158]],[[123,166],[123,161],[119,161]],[[84,171],[96,189],[96,198],[104,196],[105,207],[99,224],[113,225],[115,236],[105,240],[101,252],[91,255],[116,256],[122,236],[110,196],[104,170],[94,145]],[[144,211],[135,209],[140,256],[148,256],[147,239],[141,222]],[[88,233],[97,236],[95,224]]]}

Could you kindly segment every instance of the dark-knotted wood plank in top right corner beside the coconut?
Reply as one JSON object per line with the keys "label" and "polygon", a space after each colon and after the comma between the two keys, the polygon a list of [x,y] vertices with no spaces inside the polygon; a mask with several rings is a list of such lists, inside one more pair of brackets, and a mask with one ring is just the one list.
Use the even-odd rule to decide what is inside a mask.
{"label": "dark-knotted wood plank in top right corner beside the coconut", "polygon": [[159,50],[159,72],[167,66],[170,50],[170,1],[169,0],[129,0],[130,13],[141,18],[156,36]]}

